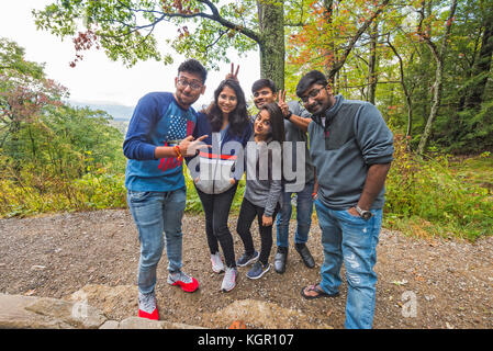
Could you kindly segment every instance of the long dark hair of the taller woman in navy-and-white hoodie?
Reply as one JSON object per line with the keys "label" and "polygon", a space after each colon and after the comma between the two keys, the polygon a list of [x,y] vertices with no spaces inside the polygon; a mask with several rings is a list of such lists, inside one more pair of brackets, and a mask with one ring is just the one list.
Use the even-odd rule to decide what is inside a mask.
{"label": "long dark hair of the taller woman in navy-and-white hoodie", "polygon": [[236,94],[236,109],[229,113],[228,122],[232,134],[239,136],[244,133],[246,126],[248,125],[249,118],[246,107],[245,93],[236,80],[226,79],[220,83],[217,89],[214,91],[214,102],[208,107],[205,114],[211,123],[212,132],[220,132],[223,126],[223,112],[217,106],[217,100],[225,87],[233,89]]}

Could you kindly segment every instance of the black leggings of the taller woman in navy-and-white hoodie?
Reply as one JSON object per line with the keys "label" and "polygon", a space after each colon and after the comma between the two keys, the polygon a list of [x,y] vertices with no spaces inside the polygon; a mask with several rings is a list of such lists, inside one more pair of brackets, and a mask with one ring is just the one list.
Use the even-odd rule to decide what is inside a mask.
{"label": "black leggings of the taller woman in navy-and-white hoodie", "polygon": [[221,194],[206,194],[195,188],[205,213],[205,234],[211,254],[219,252],[219,244],[221,244],[224,261],[228,268],[236,267],[233,236],[227,227],[227,217],[237,186],[238,184],[235,184]]}

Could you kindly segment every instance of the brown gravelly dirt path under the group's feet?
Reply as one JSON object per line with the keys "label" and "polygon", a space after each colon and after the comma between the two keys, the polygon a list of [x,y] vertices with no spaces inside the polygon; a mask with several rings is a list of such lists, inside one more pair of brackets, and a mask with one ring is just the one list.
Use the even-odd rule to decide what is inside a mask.
{"label": "brown gravelly dirt path under the group's feet", "polygon": [[[236,217],[231,218],[229,228],[235,228],[235,222]],[[284,274],[271,269],[262,279],[250,281],[245,276],[247,270],[239,268],[238,285],[228,294],[220,292],[222,275],[211,271],[203,218],[187,215],[183,233],[183,269],[199,280],[201,288],[186,294],[169,286],[165,256],[159,263],[156,290],[161,318],[225,328],[226,320],[211,316],[249,298],[309,316],[291,316],[290,327],[343,328],[346,282],[335,299],[305,301],[300,296],[302,286],[320,279],[323,253],[316,222],[309,241],[317,263],[315,269],[305,268],[291,247]],[[239,254],[243,245],[236,234],[234,238]],[[139,245],[127,211],[0,219],[0,293],[61,298],[87,284],[136,284]],[[493,328],[492,252],[493,236],[471,245],[407,238],[383,229],[376,265],[379,281],[374,328]],[[136,296],[127,296],[109,317],[134,316],[136,308]],[[247,327],[262,325],[250,322]]]}

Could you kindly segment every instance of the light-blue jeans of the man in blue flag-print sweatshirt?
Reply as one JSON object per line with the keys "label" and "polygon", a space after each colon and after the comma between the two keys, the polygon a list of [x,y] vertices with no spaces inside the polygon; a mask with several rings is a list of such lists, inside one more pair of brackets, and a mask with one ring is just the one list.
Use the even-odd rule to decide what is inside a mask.
{"label": "light-blue jeans of the man in blue flag-print sweatshirt", "polygon": [[138,261],[138,291],[152,293],[156,285],[156,269],[163,256],[166,235],[166,254],[168,271],[181,270],[183,217],[187,189],[181,188],[168,192],[127,191],[128,208],[134,217],[141,241],[141,259]]}

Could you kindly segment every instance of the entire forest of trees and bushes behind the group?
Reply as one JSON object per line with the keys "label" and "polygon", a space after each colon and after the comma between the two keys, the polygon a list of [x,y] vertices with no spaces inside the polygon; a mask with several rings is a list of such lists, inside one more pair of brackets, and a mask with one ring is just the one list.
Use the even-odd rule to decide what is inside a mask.
{"label": "entire forest of trees and bushes behind the group", "polygon": [[[304,72],[323,70],[336,93],[374,103],[395,135],[384,226],[471,240],[493,233],[493,0],[221,3],[67,0],[35,16],[40,29],[74,36],[78,55],[102,46],[132,66],[171,59],[152,35],[168,15],[180,29],[169,43],[178,53],[214,68],[226,48],[257,48],[262,77],[293,99]],[[279,27],[282,63],[269,66],[279,63],[269,36]],[[104,111],[63,103],[67,94],[14,41],[0,39],[2,217],[126,207],[123,135]],[[200,211],[187,181],[187,208]]]}

